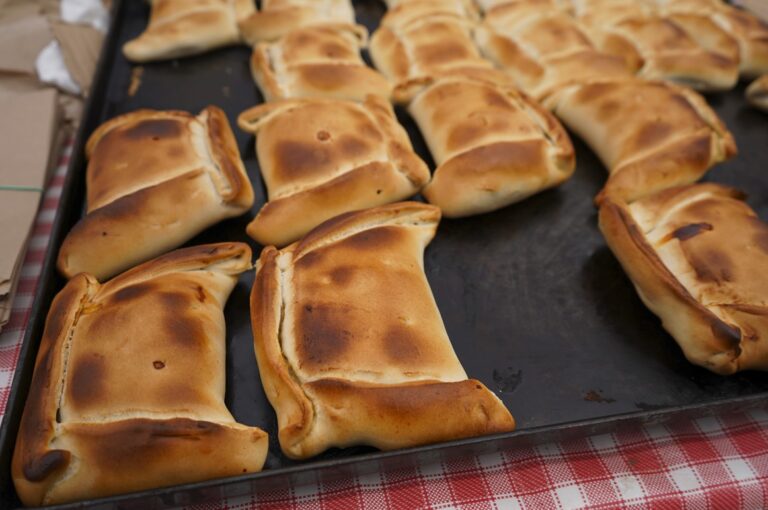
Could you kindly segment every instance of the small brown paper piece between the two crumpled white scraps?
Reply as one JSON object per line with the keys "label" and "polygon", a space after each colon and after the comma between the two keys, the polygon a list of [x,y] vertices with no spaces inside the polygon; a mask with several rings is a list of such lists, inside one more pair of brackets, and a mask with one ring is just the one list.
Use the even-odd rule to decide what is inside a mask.
{"label": "small brown paper piece between the two crumpled white scraps", "polygon": [[53,23],[51,28],[54,37],[61,45],[64,63],[69,69],[69,74],[80,85],[83,94],[87,95],[96,71],[104,36],[98,30],[86,25],[57,22]]}

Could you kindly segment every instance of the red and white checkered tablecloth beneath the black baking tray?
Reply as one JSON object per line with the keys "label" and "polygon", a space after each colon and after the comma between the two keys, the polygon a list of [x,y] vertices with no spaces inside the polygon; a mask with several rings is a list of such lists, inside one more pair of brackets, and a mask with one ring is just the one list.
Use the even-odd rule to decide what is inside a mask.
{"label": "red and white checkered tablecloth beneath the black baking tray", "polygon": [[[0,334],[4,412],[72,147],[62,155]],[[2,415],[0,414],[0,417]],[[194,505],[247,508],[768,508],[768,409],[636,427],[395,474],[351,477]]]}

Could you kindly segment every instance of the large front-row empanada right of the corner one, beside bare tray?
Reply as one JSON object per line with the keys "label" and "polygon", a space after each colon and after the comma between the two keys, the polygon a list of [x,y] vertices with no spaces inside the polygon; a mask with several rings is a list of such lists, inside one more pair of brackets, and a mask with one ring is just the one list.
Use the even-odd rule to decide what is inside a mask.
{"label": "large front-row empanada right of the corner one, beside bare tray", "polygon": [[292,458],[511,431],[467,379],[423,271],[440,211],[398,203],[336,217],[266,248],[251,295],[256,358]]}

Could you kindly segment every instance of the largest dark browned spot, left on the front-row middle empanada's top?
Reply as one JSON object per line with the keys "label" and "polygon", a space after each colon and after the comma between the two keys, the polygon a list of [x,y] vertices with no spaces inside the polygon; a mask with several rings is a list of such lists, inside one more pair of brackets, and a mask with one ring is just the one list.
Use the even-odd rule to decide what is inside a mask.
{"label": "largest dark browned spot, left on the front-row middle empanada's top", "polygon": [[301,341],[296,346],[302,364],[332,364],[349,349],[352,333],[344,329],[344,306],[309,305],[298,311]]}

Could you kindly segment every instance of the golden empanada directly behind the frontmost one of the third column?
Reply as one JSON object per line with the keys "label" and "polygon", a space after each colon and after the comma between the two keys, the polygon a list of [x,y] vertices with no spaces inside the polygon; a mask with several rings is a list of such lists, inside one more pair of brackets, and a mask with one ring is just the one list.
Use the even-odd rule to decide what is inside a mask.
{"label": "golden empanada directly behind the frontmost one of the third column", "polygon": [[371,37],[371,59],[395,84],[458,67],[490,68],[473,41],[474,27],[460,4],[403,2],[387,12]]}

